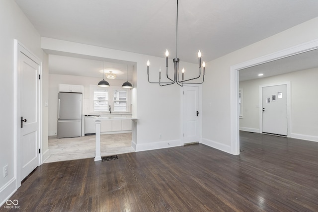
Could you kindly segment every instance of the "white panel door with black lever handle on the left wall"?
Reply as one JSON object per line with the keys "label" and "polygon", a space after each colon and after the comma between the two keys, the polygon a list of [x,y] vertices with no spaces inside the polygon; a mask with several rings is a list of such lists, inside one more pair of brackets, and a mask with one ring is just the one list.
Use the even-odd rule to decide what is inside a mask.
{"label": "white panel door with black lever handle on the left wall", "polygon": [[21,181],[39,165],[39,73],[40,65],[27,57],[19,46],[19,128]]}

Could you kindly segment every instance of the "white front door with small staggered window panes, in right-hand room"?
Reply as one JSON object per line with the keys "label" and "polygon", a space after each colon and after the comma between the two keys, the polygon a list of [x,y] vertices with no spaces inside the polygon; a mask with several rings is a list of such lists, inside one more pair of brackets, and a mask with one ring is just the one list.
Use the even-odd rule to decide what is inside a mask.
{"label": "white front door with small staggered window panes, in right-hand room", "polygon": [[262,132],[287,136],[287,85],[262,87]]}

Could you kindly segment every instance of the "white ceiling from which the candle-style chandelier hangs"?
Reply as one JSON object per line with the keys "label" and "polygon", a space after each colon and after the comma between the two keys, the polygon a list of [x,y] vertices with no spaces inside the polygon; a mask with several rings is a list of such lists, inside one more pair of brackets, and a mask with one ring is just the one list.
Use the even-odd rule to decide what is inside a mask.
{"label": "white ceiling from which the candle-style chandelier hangs", "polygon": [[[43,37],[175,56],[176,0],[15,1]],[[178,58],[197,63],[200,49],[214,60],[317,17],[317,8],[318,0],[179,0]],[[49,63],[50,72],[70,69]]]}

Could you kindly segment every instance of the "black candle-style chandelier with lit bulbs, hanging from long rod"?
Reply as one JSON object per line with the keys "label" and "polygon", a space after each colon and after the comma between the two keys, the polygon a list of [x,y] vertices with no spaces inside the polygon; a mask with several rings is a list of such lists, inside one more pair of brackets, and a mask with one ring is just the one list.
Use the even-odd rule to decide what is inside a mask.
{"label": "black candle-style chandelier with lit bulbs, hanging from long rod", "polygon": [[168,49],[166,49],[166,51],[165,51],[165,68],[166,68],[166,77],[168,80],[166,82],[161,81],[161,68],[160,68],[159,69],[159,81],[157,81],[157,82],[150,81],[149,80],[150,62],[148,60],[147,61],[148,82],[159,84],[160,86],[165,86],[165,85],[177,83],[181,87],[183,86],[183,84],[202,84],[204,82],[204,72],[205,72],[205,62],[204,61],[202,63],[202,75],[203,75],[202,81],[201,82],[190,82],[191,80],[198,79],[201,76],[201,51],[199,50],[199,52],[198,52],[199,75],[197,77],[194,77],[194,78],[184,79],[184,72],[185,71],[184,71],[184,69],[182,69],[182,79],[180,80],[180,76],[179,76],[180,75],[179,74],[179,61],[180,61],[180,59],[177,57],[177,50],[178,50],[178,0],[177,0],[177,12],[176,12],[175,58],[173,59],[173,63],[174,63],[173,79],[172,79],[172,77],[170,78],[168,76],[169,52],[168,52]]}

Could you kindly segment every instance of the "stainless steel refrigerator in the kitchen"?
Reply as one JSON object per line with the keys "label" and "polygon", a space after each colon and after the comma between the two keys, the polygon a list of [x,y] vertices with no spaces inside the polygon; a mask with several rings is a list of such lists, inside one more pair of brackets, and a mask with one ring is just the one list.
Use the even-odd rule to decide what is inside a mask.
{"label": "stainless steel refrigerator in the kitchen", "polygon": [[58,93],[58,139],[81,136],[81,93]]}

